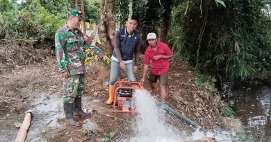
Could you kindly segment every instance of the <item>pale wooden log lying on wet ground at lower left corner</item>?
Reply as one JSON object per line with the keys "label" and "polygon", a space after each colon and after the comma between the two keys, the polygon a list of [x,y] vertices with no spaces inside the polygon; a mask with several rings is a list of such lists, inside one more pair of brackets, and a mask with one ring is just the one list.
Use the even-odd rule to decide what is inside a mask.
{"label": "pale wooden log lying on wet ground at lower left corner", "polygon": [[31,116],[32,116],[31,112],[28,112],[24,117],[24,122],[22,123],[22,126],[19,128],[19,132],[16,136],[15,142],[24,142],[24,140],[26,139],[26,134],[31,124]]}

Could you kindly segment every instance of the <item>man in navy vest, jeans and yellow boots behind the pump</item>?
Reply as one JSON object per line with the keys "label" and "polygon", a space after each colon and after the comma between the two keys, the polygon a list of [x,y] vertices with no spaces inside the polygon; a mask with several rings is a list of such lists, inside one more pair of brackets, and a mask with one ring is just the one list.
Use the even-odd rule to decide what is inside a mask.
{"label": "man in navy vest, jeans and yellow boots behind the pump", "polygon": [[[123,69],[130,81],[136,81],[134,72],[138,69],[140,54],[140,32],[136,30],[138,18],[132,16],[126,21],[126,27],[115,32],[114,51],[111,57],[109,98],[106,103],[113,103],[113,85],[117,81],[120,69]],[[133,58],[135,63],[133,64]]]}

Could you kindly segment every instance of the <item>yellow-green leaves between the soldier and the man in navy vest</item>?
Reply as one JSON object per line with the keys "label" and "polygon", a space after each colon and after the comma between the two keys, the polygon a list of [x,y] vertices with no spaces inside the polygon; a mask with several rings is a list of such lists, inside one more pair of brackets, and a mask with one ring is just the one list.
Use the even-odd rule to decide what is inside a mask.
{"label": "yellow-green leaves between the soldier and the man in navy vest", "polygon": [[[97,46],[97,47],[101,48],[101,46],[104,45],[105,41],[106,40],[103,39],[103,38],[101,38],[101,39],[93,39],[91,45],[92,46]],[[96,55],[95,52],[92,51],[90,48],[86,49],[85,53],[87,55],[87,57],[85,58],[85,64],[87,64],[88,66],[92,66],[92,62],[99,60],[99,56]],[[110,58],[110,54],[109,53],[104,52],[104,54],[108,58]],[[104,66],[108,66],[108,67],[111,66],[111,62],[108,61],[108,60],[102,60],[101,64],[104,65]]]}

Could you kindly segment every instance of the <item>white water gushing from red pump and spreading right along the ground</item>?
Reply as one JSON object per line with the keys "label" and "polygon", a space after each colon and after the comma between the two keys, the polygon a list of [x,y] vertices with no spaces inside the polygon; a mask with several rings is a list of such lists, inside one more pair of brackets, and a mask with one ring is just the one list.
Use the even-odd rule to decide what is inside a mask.
{"label": "white water gushing from red pump and spreading right along the ground", "polygon": [[234,132],[200,132],[197,130],[188,134],[185,131],[178,130],[166,123],[165,112],[156,105],[156,99],[148,91],[136,90],[133,97],[136,101],[138,114],[136,114],[137,125],[134,127],[135,136],[131,139],[131,142],[180,142],[204,137],[213,137],[216,141],[237,141],[234,138]]}

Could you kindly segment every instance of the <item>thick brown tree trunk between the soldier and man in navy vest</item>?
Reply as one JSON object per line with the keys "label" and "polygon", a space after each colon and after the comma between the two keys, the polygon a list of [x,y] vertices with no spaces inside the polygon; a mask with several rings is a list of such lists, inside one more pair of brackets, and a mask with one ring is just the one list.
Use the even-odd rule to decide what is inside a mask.
{"label": "thick brown tree trunk between the soldier and man in navy vest", "polygon": [[[112,55],[114,48],[114,35],[115,35],[115,0],[101,0],[101,14],[100,23],[95,29],[95,39],[106,39],[105,44],[102,46],[103,51]],[[99,73],[97,76],[97,83],[108,81],[110,69],[106,66],[99,66]]]}

